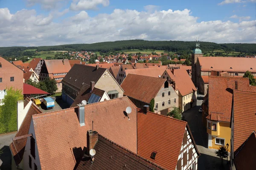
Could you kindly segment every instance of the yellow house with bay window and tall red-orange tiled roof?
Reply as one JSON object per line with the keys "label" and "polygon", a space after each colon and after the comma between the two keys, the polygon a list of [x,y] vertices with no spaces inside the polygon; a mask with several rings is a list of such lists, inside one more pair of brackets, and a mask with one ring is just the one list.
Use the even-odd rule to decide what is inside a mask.
{"label": "yellow house with bay window and tall red-orange tiled roof", "polygon": [[[230,146],[233,89],[249,88],[249,79],[239,77],[209,77],[208,94],[202,104],[202,119],[207,128],[208,148]],[[228,148],[230,151],[230,147]]]}

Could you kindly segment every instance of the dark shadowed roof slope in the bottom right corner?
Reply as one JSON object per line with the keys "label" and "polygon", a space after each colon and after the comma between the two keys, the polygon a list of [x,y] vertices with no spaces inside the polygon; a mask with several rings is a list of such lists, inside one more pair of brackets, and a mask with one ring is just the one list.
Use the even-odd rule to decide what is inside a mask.
{"label": "dark shadowed roof slope in the bottom right corner", "polygon": [[256,133],[253,131],[248,139],[241,145],[239,152],[234,155],[236,170],[254,170],[256,167],[255,153]]}

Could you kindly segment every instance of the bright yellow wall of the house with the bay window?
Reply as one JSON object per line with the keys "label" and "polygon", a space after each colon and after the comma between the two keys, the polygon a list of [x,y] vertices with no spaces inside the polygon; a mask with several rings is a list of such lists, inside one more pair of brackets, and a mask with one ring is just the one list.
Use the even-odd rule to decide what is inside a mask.
{"label": "bright yellow wall of the house with the bay window", "polygon": [[231,138],[231,128],[230,123],[228,122],[218,122],[217,123],[217,131],[212,131],[207,128],[207,133],[213,135],[212,136],[212,149],[218,149],[221,145],[215,144],[215,138],[223,138],[225,139],[225,146],[228,143],[230,151],[230,138]]}

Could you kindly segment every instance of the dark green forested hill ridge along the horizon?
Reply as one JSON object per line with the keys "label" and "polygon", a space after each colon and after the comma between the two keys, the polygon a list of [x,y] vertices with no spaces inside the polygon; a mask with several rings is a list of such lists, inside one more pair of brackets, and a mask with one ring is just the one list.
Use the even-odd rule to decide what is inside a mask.
{"label": "dark green forested hill ridge along the horizon", "polygon": [[[256,54],[256,44],[217,44],[214,42],[200,42],[200,46],[203,52],[223,49],[225,51]],[[26,49],[37,49],[37,51],[101,51],[105,53],[109,51],[121,51],[127,49],[155,49],[177,52],[180,50],[192,50],[193,48],[195,48],[195,42],[188,41],[123,40],[92,44],[69,44],[39,47],[0,47],[0,55],[12,56],[17,54],[17,51],[24,51]]]}

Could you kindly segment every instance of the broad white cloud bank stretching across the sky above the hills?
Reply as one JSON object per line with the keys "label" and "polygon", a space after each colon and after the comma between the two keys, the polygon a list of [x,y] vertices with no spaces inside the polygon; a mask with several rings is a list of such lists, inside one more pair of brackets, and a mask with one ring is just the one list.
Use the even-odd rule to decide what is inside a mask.
{"label": "broad white cloud bank stretching across the sky above the hills", "polygon": [[[111,14],[88,16],[81,11],[63,21],[37,15],[35,10],[10,13],[0,8],[0,46],[60,45],[115,40],[182,40],[255,43],[255,22],[213,20],[198,22],[188,9],[146,11],[114,9]],[[232,18],[240,19],[239,16]]]}

